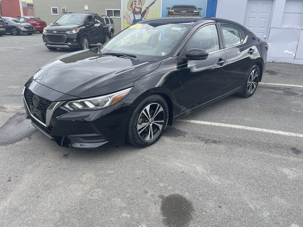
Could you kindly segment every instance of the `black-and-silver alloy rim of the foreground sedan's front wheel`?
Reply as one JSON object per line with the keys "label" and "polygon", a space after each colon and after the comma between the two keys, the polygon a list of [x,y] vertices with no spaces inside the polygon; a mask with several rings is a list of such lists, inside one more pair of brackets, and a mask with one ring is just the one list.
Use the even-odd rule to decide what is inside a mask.
{"label": "black-and-silver alloy rim of the foreground sedan's front wheel", "polygon": [[137,130],[143,140],[152,140],[160,132],[164,124],[164,110],[158,103],[148,104],[141,112]]}

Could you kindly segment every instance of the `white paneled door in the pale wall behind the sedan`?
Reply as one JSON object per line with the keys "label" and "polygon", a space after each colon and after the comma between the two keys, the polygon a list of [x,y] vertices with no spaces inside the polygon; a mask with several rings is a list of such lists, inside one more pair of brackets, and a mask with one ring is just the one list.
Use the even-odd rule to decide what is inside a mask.
{"label": "white paneled door in the pale wall behind the sedan", "polygon": [[244,26],[267,40],[273,0],[248,0]]}

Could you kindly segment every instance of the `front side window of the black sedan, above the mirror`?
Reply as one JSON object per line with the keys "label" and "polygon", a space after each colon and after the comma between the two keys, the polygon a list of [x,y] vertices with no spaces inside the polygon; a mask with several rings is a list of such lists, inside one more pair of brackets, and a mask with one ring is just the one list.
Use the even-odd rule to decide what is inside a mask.
{"label": "front side window of the black sedan, above the mirror", "polygon": [[187,50],[191,48],[201,48],[208,52],[218,51],[220,46],[216,25],[207,25],[199,29],[191,38],[186,48]]}

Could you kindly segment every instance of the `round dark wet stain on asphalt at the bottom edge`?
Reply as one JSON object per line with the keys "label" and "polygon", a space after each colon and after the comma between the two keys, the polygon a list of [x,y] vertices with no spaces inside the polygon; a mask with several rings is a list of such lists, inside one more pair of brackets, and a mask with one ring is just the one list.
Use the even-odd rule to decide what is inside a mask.
{"label": "round dark wet stain on asphalt at the bottom edge", "polygon": [[194,212],[192,202],[180,194],[160,198],[163,223],[168,227],[188,227]]}

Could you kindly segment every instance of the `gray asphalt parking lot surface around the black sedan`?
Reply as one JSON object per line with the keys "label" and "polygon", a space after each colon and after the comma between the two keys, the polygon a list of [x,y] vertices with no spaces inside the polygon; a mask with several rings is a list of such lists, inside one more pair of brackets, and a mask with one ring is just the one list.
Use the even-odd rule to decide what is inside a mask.
{"label": "gray asphalt parking lot surface around the black sedan", "polygon": [[267,63],[252,97],[184,116],[152,146],[79,150],[36,130],[22,100],[70,52],[0,37],[0,226],[303,226],[302,65]]}

